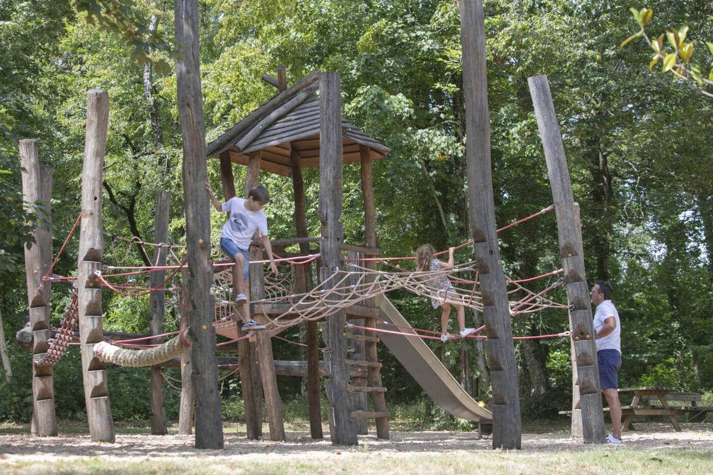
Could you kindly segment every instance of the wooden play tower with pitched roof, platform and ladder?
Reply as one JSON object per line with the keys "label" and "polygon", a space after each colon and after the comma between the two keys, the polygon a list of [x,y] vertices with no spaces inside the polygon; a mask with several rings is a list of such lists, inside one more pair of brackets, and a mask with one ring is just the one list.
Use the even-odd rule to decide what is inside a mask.
{"label": "wooden play tower with pitched roof, platform and ladder", "polygon": [[[324,282],[336,270],[344,269],[344,252],[358,253],[364,257],[379,254],[376,249],[374,190],[371,182],[371,160],[384,158],[389,151],[384,145],[369,138],[352,123],[342,118],[339,74],[314,72],[293,86],[287,85],[284,66],[277,70],[277,78],[263,76],[263,80],[279,89],[270,101],[252,111],[242,121],[207,145],[207,156],[220,159],[220,175],[225,200],[235,196],[232,163],[247,166],[245,173],[245,198],[257,184],[260,170],[292,177],[294,187],[294,220],[296,239],[278,240],[273,247],[279,252],[285,245],[299,244],[299,252],[309,255],[319,252],[317,282]],[[318,93],[319,91],[319,93]],[[342,215],[342,170],[344,163],[360,163],[361,189],[364,195],[364,245],[344,244]],[[322,236],[307,235],[304,207],[302,168],[319,167],[319,221]],[[317,243],[318,250],[310,244]],[[282,254],[282,253],[281,253]],[[261,260],[262,245],[250,246],[250,260]],[[376,262],[366,261],[366,267],[376,268]],[[250,265],[250,317],[267,323],[267,315],[289,312],[290,304],[260,304],[265,297],[262,265]],[[329,288],[329,282],[324,282]],[[294,291],[308,292],[313,286],[313,270],[309,265],[295,265]],[[334,444],[356,444],[357,434],[366,434],[366,419],[376,419],[376,435],[389,437],[389,413],[386,412],[384,388],[378,361],[375,336],[347,333],[347,320],[356,325],[376,327],[379,308],[373,299],[361,305],[351,305],[347,310],[331,315],[322,323],[322,337],[329,347],[324,352],[322,372],[318,349],[317,322],[307,322],[307,394],[309,422],[312,438],[322,438],[320,418],[319,378],[328,375],[326,384],[330,407],[329,429]],[[297,314],[295,315],[297,316]],[[242,336],[240,328],[238,335]],[[245,418],[248,438],[260,436],[260,393],[265,394],[265,404],[270,422],[270,438],[284,439],[282,408],[277,394],[275,362],[268,332],[257,332],[257,342],[239,342],[240,379],[245,399]],[[349,355],[349,359],[347,356]],[[282,374],[285,374],[282,372]],[[290,372],[289,374],[300,374]],[[374,412],[366,410],[366,397],[371,394]]]}

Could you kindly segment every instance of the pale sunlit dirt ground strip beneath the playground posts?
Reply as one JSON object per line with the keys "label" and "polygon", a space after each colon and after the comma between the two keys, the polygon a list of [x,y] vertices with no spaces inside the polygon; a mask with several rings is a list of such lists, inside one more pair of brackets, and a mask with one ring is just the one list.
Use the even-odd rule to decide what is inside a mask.
{"label": "pale sunlit dirt ground strip beneath the playground posts", "polygon": [[[677,432],[670,424],[651,423],[637,424],[636,431],[623,435],[622,446],[611,446],[612,449],[634,449],[640,451],[655,451],[659,449],[684,449],[688,451],[713,450],[713,424],[682,424],[683,431]],[[242,429],[242,431],[241,431]],[[91,441],[88,431],[79,434],[63,433],[60,428],[58,437],[36,437],[26,433],[26,427],[0,425],[0,461],[4,463],[27,463],[45,461],[58,457],[63,460],[83,457],[102,458],[108,456],[121,461],[134,461],[150,457],[183,458],[203,456],[208,452],[221,457],[240,459],[242,456],[275,456],[299,455],[300,458],[320,457],[326,454],[342,452],[369,452],[370,454],[447,454],[458,451],[490,451],[492,440],[489,436],[478,439],[477,432],[455,431],[391,431],[390,440],[376,439],[373,431],[369,435],[359,436],[357,447],[332,446],[329,441],[329,430],[324,427],[325,439],[313,441],[307,427],[290,426],[287,428],[287,441],[272,442],[269,440],[267,424],[263,428],[263,438],[259,441],[249,441],[245,436],[245,426],[225,424],[225,449],[220,451],[197,450],[193,447],[194,436],[169,434],[168,436],[152,436],[131,432],[139,429],[117,429],[116,443],[98,443]],[[74,427],[76,431],[76,427]],[[170,431],[171,432],[171,431]],[[523,434],[523,452],[575,452],[587,451],[592,446],[585,445],[581,440],[570,438],[565,430],[549,431],[542,434]]]}

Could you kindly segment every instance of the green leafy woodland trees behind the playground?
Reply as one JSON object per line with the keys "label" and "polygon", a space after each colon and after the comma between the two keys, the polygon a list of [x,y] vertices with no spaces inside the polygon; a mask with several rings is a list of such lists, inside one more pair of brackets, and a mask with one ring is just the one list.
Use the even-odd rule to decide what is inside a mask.
{"label": "green leafy woodland trees behind the playground", "polygon": [[[14,333],[27,315],[17,141],[37,138],[52,165],[55,251],[79,209],[86,91],[111,101],[104,182],[108,233],[153,239],[155,192],[173,192],[170,240],[184,241],[181,147],[173,61],[165,51],[136,49],[68,0],[0,0],[0,312],[13,375],[0,378],[0,419],[29,420],[28,350]],[[126,4],[125,1],[114,2]],[[173,36],[172,1],[135,3],[152,31]],[[289,83],[316,70],[342,74],[344,116],[391,148],[374,162],[378,245],[386,256],[411,255],[431,242],[443,250],[470,239],[465,183],[458,4],[436,0],[207,0],[201,2],[201,67],[207,140],[265,102],[276,89],[260,80],[287,66]],[[590,285],[606,279],[622,321],[622,387],[663,385],[713,397],[713,101],[686,83],[649,71],[642,41],[620,48],[637,31],[630,2],[583,0],[485,2],[493,186],[498,225],[551,203],[527,78],[546,74],[560,118],[575,199],[581,205]],[[647,26],[686,24],[689,39],[713,39],[710,1],[649,1]],[[89,20],[89,21],[88,21]],[[710,63],[705,48],[700,63]],[[160,61],[163,60],[163,61]],[[657,69],[657,68],[656,68]],[[220,183],[217,160],[208,173]],[[245,170],[235,165],[237,188]],[[319,173],[304,170],[310,235],[319,235]],[[294,237],[292,183],[261,175],[272,194],[265,208],[274,239]],[[222,198],[219,196],[219,198]],[[206,198],[207,199],[207,198]],[[359,170],[344,170],[344,233],[364,242]],[[212,215],[217,243],[224,217]],[[524,278],[560,267],[553,214],[500,235],[506,273]],[[71,240],[55,272],[76,275]],[[104,262],[113,264],[107,240]],[[125,245],[117,242],[117,257]],[[457,262],[471,259],[458,251]],[[128,263],[142,265],[138,252]],[[553,277],[554,278],[554,277]],[[530,285],[543,290],[552,281]],[[53,321],[68,301],[53,285]],[[563,290],[552,294],[565,302]],[[414,327],[436,329],[438,312],[424,298],[396,292],[394,303]],[[106,330],[147,332],[147,297],[104,293]],[[176,325],[178,311],[167,318]],[[473,315],[468,315],[472,319]],[[513,319],[516,335],[567,330],[567,315],[543,311]],[[299,340],[299,328],[284,335]],[[488,402],[484,352],[475,342],[430,343],[477,399]],[[275,359],[300,359],[299,347],[273,342]],[[567,339],[515,344],[523,417],[550,417],[568,406]],[[418,408],[424,424],[448,424],[385,347],[388,404]],[[58,417],[83,419],[81,364],[70,352],[55,369]],[[148,369],[110,367],[115,419],[148,419]],[[174,375],[175,376],[175,375]],[[302,382],[279,377],[286,404],[302,398]],[[225,419],[241,418],[237,375],[222,382]],[[166,393],[177,417],[178,392]],[[299,404],[297,404],[299,405]],[[405,409],[404,409],[405,410]],[[399,414],[395,414],[398,417]]]}

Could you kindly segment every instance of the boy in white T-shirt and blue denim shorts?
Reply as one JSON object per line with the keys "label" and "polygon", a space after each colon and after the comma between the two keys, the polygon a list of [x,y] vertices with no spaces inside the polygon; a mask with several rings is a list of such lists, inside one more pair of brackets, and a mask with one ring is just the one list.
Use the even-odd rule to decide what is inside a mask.
{"label": "boy in white T-shirt and blue denim shorts", "polygon": [[[220,248],[235,261],[232,267],[232,282],[235,286],[235,303],[247,303],[247,282],[249,282],[250,274],[248,273],[250,262],[248,260],[247,251],[250,248],[250,240],[256,232],[260,233],[262,244],[267,251],[267,257],[270,257],[270,268],[272,272],[277,274],[277,265],[275,258],[272,257],[272,246],[270,245],[270,237],[267,235],[267,217],[262,212],[262,207],[270,202],[270,193],[267,192],[264,186],[256,185],[248,193],[247,200],[238,198],[237,196],[230,198],[225,203],[215,198],[210,182],[205,181],[205,189],[208,190],[210,200],[216,210],[227,213],[228,219],[220,233]],[[241,272],[242,271],[242,272]],[[254,320],[248,320],[247,305],[243,311],[243,320],[245,325],[244,330],[257,330],[265,328],[264,325],[257,325]]]}

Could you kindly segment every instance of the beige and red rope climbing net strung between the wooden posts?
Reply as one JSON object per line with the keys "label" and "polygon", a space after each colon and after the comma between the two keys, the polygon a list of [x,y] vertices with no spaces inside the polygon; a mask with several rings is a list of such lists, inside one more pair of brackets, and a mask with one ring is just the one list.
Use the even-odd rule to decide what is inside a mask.
{"label": "beige and red rope climbing net strung between the wooden posts", "polygon": [[[535,216],[547,213],[553,209],[554,206],[550,206],[540,210],[539,213],[535,213],[534,215],[518,220],[515,223],[511,223],[510,225],[499,229],[498,232],[511,228],[519,223],[523,223],[524,221],[532,219]],[[67,236],[61,250],[58,252],[56,259],[50,267],[50,270],[41,280],[41,286],[44,285],[47,280],[76,280],[76,277],[61,277],[53,275],[51,274],[51,271],[73,231],[78,225],[79,220],[80,218],[77,218],[71,232]],[[131,297],[148,295],[152,292],[158,291],[168,292],[170,302],[172,302],[173,305],[178,305],[182,289],[180,285],[177,285],[175,280],[178,279],[178,272],[186,265],[184,246],[173,245],[165,242],[146,242],[141,240],[139,237],[125,238],[109,233],[105,233],[105,235],[108,236],[108,240],[110,241],[108,249],[111,250],[111,255],[113,255],[117,265],[105,265],[103,266],[102,272],[96,273],[96,277],[101,280],[101,285],[103,285],[103,287],[107,287],[108,289],[121,295]],[[471,245],[472,243],[473,241],[466,242],[456,247],[456,249],[465,247],[466,245]],[[122,245],[125,245],[123,250],[121,249]],[[147,246],[158,247],[159,251],[165,249],[165,255],[172,259],[175,264],[158,265],[158,258],[161,252],[154,252],[155,261],[152,262],[150,257],[148,257],[148,252],[146,250]],[[130,251],[134,247],[138,248],[143,260],[148,260],[150,265],[120,266],[120,264],[123,264],[128,260]],[[443,252],[438,254],[442,253]],[[296,292],[294,287],[295,265],[308,265],[310,262],[316,260],[319,255],[307,255],[292,258],[279,258],[279,256],[276,255],[276,257],[278,257],[275,260],[280,264],[279,268],[281,272],[277,275],[267,272],[265,275],[265,297],[254,302],[250,302],[251,304],[255,304],[254,310],[262,312],[267,318],[267,321],[270,322],[268,331],[274,337],[284,331],[287,327],[292,327],[309,320],[321,320],[324,317],[329,317],[342,310],[349,310],[349,307],[360,305],[367,300],[374,299],[374,297],[383,295],[386,292],[392,292],[394,290],[406,290],[415,295],[436,300],[436,302],[441,305],[446,303],[451,305],[462,305],[463,307],[483,312],[483,298],[482,293],[479,290],[479,276],[478,271],[475,268],[474,261],[456,265],[448,269],[414,272],[391,263],[395,260],[413,259],[413,257],[347,259],[344,260],[346,263],[345,269],[335,270],[332,275],[329,275],[322,282],[317,283],[317,285],[314,285],[316,282],[309,282],[307,287],[312,287],[312,285],[314,285],[314,288],[307,292]],[[217,246],[213,247],[211,260],[215,266],[214,283],[210,290],[215,300],[215,321],[213,325],[215,326],[215,330],[218,334],[222,334],[225,337],[230,338],[229,342],[223,342],[219,345],[229,344],[238,341],[239,339],[251,337],[251,334],[247,334],[240,338],[237,337],[237,321],[239,319],[237,318],[236,305],[232,302],[232,295],[234,295],[232,290],[232,261],[220,260],[220,249]],[[374,266],[366,264],[369,260],[376,260],[383,267],[390,268],[390,270],[375,270],[373,268]],[[252,263],[262,263],[265,265],[267,262],[268,261],[257,261]],[[163,282],[160,282],[158,285],[147,286],[137,283],[140,279],[140,275],[156,271],[163,271],[164,275],[165,272],[170,272],[168,277],[165,277]],[[567,309],[568,305],[560,304],[548,297],[545,297],[547,292],[563,284],[563,278],[560,278],[553,284],[548,285],[548,287],[541,292],[532,292],[523,285],[526,282],[531,282],[540,278],[552,277],[560,272],[562,272],[561,269],[522,280],[507,278],[508,301],[511,315],[514,317],[515,315],[540,312],[545,308]],[[121,279],[122,282],[116,282],[116,279]],[[451,282],[451,287],[444,289],[441,284],[443,279],[447,279]],[[280,308],[279,313],[275,313],[274,308],[270,310],[270,312],[265,311],[266,306],[273,304],[278,305],[277,308]],[[279,307],[279,305],[282,305],[282,307]],[[53,328],[56,336],[48,341],[50,343],[49,351],[43,359],[35,362],[36,365],[44,366],[55,364],[63,352],[66,351],[68,344],[77,344],[72,341],[73,339],[78,339],[75,335],[77,323],[76,314],[75,290],[75,292],[73,292],[71,302],[67,307],[65,317],[61,322],[61,327]],[[136,339],[118,340],[113,343],[120,344],[124,347],[145,349],[156,346],[157,344],[149,344],[144,340],[155,339],[175,333],[177,332],[163,335],[150,335]],[[561,336],[561,334],[559,335]]]}

